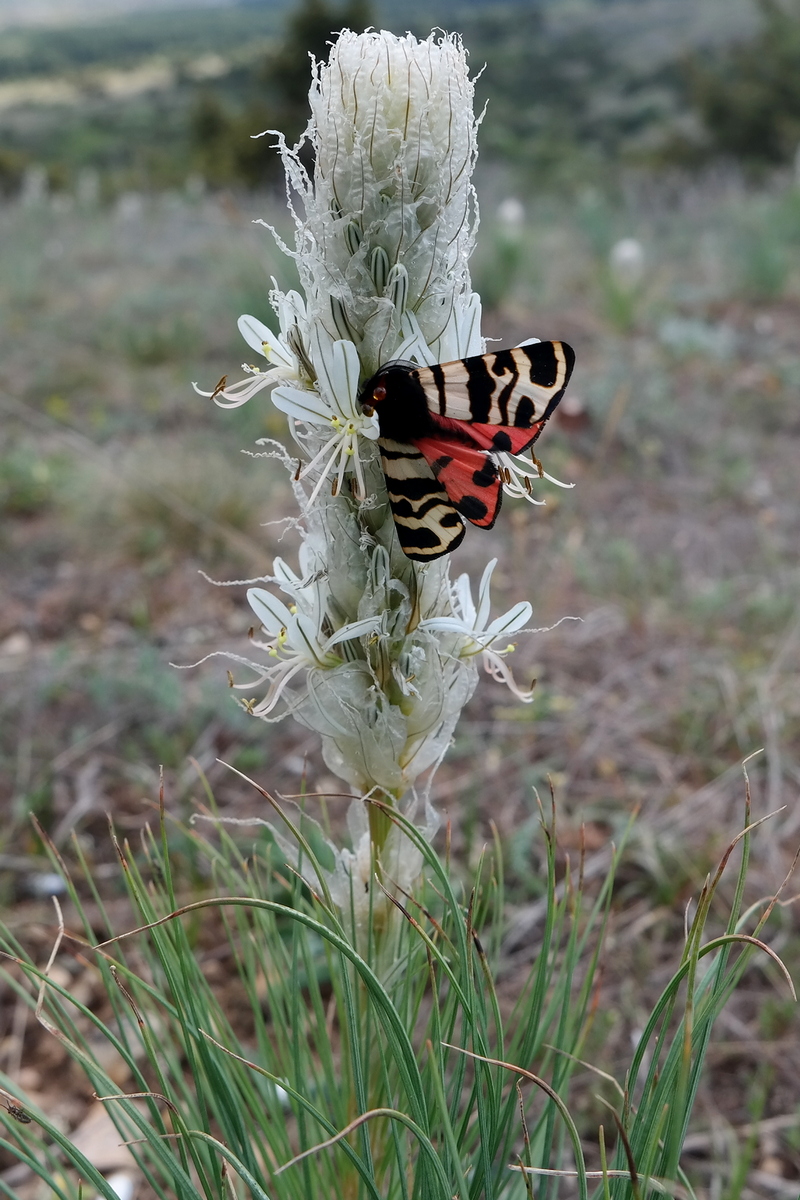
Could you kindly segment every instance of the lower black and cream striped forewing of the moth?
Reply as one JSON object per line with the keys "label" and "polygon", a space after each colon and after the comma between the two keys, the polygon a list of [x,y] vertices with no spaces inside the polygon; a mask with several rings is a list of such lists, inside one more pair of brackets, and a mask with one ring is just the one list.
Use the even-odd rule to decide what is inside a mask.
{"label": "lower black and cream striped forewing of the moth", "polygon": [[380,458],[397,536],[409,558],[427,563],[462,541],[464,524],[416,446],[380,438]]}

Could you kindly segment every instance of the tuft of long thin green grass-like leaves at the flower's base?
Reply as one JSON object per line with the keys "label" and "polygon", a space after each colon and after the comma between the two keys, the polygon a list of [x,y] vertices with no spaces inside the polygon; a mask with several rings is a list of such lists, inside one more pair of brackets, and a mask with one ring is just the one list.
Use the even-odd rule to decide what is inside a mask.
{"label": "tuft of long thin green grass-like leaves at the flower's base", "polygon": [[[333,851],[309,817],[276,808],[303,883],[267,826],[255,822],[254,839],[241,844],[217,820],[210,793],[207,800],[211,824],[175,823],[162,796],[161,828],[143,830],[138,852],[115,841],[127,928],[106,910],[74,842],[74,871],[47,847],[70,896],[67,926],[56,910],[47,966],[30,958],[24,935],[0,934],[0,978],[102,1097],[155,1195],[210,1200],[228,1177],[236,1195],[259,1200],[323,1192],[500,1200],[534,1188],[554,1200],[559,1176],[575,1180],[584,1200],[646,1200],[662,1194],[660,1181],[667,1194],[694,1195],[681,1147],[709,1037],[754,952],[764,953],[759,935],[772,912],[766,901],[742,912],[748,803],[744,833],[697,896],[682,953],[675,948],[672,978],[624,1081],[609,1088],[608,1076],[593,1080],[593,1090],[607,1093],[608,1106],[599,1109],[587,1106],[576,1075],[599,1050],[594,1026],[607,1032],[618,1020],[599,974],[616,856],[597,887],[587,888],[583,859],[559,881],[555,810],[542,817],[543,923],[510,1007],[509,990],[499,990],[497,846],[464,883],[398,820],[404,853],[420,856],[421,884],[413,896],[395,889],[391,904],[373,882],[368,908],[356,917],[357,896],[350,912],[331,900]],[[717,893],[734,854],[733,898],[721,918]],[[106,1016],[50,977],[73,949],[102,979]],[[219,959],[235,979],[233,1012],[213,985]],[[776,991],[777,1002],[786,979]],[[13,1116],[0,1112],[12,1159],[60,1195],[90,1186],[110,1200],[91,1160],[36,1105],[11,1094],[30,1117],[20,1136]],[[753,1103],[758,1120],[765,1087]],[[614,1142],[597,1182],[606,1171],[599,1145]],[[56,1168],[55,1146],[66,1170]],[[753,1150],[727,1164],[732,1187],[746,1178]]]}

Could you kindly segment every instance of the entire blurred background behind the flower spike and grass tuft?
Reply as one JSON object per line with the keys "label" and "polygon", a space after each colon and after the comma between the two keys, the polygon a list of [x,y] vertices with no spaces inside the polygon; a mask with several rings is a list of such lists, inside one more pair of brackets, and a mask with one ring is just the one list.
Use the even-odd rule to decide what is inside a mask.
{"label": "entire blurred background behind the flower spike and grass tuft", "polygon": [[[170,664],[246,647],[243,587],[200,572],[293,554],[271,523],[293,511],[284,476],[241,454],[283,419],[191,385],[237,378],[236,317],[269,324],[271,278],[293,282],[253,223],[291,235],[271,139],[252,134],[297,137],[308,52],[368,24],[463,34],[487,103],[485,332],[578,356],[540,443],[575,488],[506,502],[455,569],[497,553],[498,605],[582,623],[521,640],[533,706],[482,683],[433,799],[467,866],[498,827],[510,953],[541,916],[533,788],[553,784],[565,857],[583,823],[589,875],[640,809],[597,1026],[625,1057],[740,828],[746,755],[763,750],[756,815],[784,806],[757,836],[753,898],[800,841],[798,0],[0,0],[0,902],[41,919],[46,953],[31,812],[65,852],[77,836],[113,899],[106,814],[137,839],[161,764],[176,812],[203,797],[198,767],[223,811],[261,810],[218,758],[329,792],[333,822],[344,809],[313,737],[248,718],[224,660]],[[796,964],[790,906],[777,928]],[[800,1038],[775,978],[753,972],[723,1018],[712,1110],[768,1122],[752,1158],[771,1182],[751,1194],[794,1200]]]}

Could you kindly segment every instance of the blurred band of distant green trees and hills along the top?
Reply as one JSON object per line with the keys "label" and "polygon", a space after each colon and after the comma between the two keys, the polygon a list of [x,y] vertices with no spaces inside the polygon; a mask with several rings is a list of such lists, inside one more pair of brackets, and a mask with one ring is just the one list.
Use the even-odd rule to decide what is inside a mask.
{"label": "blurred band of distant green trees and hills along the top", "polygon": [[[604,185],[625,163],[788,162],[800,128],[798,0],[720,4],[595,0],[567,13],[554,0],[453,0],[431,16],[415,0],[297,0],[10,31],[0,83],[18,91],[0,109],[0,188],[16,191],[34,163],[56,187],[98,169],[109,192],[198,174],[213,186],[270,182],[276,157],[253,134],[300,134],[308,53],[323,54],[343,24],[426,32],[432,20],[458,28],[487,65],[485,155],[537,187]],[[46,85],[56,88],[49,103]]]}

